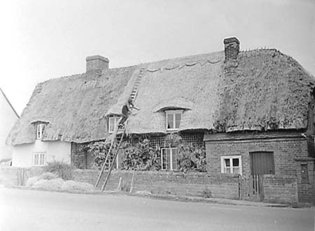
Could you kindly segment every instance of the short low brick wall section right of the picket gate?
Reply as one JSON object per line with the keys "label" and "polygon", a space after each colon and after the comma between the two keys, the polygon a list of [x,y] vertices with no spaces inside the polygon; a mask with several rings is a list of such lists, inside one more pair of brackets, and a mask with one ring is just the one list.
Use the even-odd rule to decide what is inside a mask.
{"label": "short low brick wall section right of the picket gate", "polygon": [[264,175],[264,202],[297,204],[297,177],[290,175]]}

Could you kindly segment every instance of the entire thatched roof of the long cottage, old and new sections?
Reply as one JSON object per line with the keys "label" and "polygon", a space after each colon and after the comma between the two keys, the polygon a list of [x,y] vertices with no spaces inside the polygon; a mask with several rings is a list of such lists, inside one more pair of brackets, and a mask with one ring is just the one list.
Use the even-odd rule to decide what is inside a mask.
{"label": "entire thatched roof of the long cottage, old and new sections", "polygon": [[215,52],[43,82],[8,140],[34,142],[36,121],[48,123],[43,140],[103,140],[105,116],[121,113],[135,84],[141,110],[130,116],[128,133],[167,133],[164,111],[176,108],[183,110],[179,131],[307,128],[315,80],[297,61],[276,50],[224,60]]}

